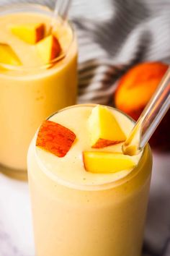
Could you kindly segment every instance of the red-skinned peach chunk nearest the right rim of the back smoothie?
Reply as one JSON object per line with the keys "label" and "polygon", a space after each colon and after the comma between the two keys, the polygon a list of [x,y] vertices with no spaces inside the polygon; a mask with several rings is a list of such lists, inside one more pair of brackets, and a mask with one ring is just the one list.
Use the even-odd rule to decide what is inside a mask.
{"label": "red-skinned peach chunk nearest the right rim of the back smoothie", "polygon": [[48,37],[40,40],[36,44],[36,48],[44,64],[48,64],[61,53],[61,45],[54,35],[48,35]]}

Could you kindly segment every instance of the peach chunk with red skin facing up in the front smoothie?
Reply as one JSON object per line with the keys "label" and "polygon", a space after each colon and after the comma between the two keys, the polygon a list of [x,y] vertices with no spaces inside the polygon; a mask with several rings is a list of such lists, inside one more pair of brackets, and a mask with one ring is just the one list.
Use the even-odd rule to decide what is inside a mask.
{"label": "peach chunk with red skin facing up in the front smoothie", "polygon": [[53,121],[44,121],[37,134],[36,146],[62,158],[68,153],[76,135]]}

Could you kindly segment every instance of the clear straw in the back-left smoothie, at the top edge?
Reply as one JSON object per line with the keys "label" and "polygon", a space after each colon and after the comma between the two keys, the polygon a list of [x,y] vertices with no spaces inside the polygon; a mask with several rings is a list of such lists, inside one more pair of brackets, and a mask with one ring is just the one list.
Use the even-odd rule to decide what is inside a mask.
{"label": "clear straw in the back-left smoothie, at the top edge", "polygon": [[50,35],[53,32],[53,27],[58,16],[62,18],[62,22],[65,22],[67,20],[68,11],[70,7],[71,0],[56,0],[53,17],[50,23],[50,29],[48,30],[48,35]]}

